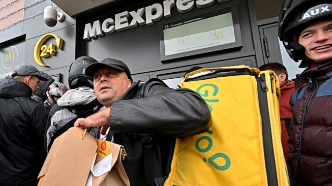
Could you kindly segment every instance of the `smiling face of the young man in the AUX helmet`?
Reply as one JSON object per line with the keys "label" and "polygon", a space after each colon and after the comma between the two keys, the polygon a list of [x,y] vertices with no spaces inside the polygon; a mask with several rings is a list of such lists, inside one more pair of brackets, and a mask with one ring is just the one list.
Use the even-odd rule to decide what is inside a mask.
{"label": "smiling face of the young man in the AUX helmet", "polygon": [[298,43],[306,48],[306,57],[318,63],[332,60],[332,20],[319,21],[305,28]]}

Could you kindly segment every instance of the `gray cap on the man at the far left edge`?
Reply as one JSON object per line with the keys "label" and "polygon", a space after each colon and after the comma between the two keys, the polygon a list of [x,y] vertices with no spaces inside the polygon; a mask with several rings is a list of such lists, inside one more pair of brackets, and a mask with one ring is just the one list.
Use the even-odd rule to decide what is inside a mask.
{"label": "gray cap on the man at the far left edge", "polygon": [[48,79],[45,78],[41,72],[33,65],[29,64],[20,64],[14,68],[12,71],[12,77],[15,76],[37,76],[41,81],[47,81]]}

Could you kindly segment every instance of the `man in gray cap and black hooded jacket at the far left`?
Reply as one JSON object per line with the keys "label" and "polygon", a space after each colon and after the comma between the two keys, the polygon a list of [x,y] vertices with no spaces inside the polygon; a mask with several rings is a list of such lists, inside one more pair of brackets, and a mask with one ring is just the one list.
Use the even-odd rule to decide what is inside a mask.
{"label": "man in gray cap and black hooded jacket at the far left", "polygon": [[12,77],[0,80],[0,185],[37,185],[45,160],[40,152],[46,113],[31,97],[46,80],[28,64],[18,65]]}

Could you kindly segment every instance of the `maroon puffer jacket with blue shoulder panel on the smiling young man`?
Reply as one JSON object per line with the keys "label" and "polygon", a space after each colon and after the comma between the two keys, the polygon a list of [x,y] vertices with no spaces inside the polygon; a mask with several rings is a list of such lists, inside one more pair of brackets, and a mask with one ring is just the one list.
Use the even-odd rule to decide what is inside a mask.
{"label": "maroon puffer jacket with blue shoulder panel on the smiling young man", "polygon": [[293,118],[287,154],[294,185],[332,183],[331,77],[332,61],[297,75],[290,100]]}

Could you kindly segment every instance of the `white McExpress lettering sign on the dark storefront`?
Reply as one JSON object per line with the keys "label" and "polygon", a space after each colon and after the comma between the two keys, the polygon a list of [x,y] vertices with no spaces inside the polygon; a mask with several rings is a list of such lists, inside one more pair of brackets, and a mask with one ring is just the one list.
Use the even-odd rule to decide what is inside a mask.
{"label": "white McExpress lettering sign on the dark storefront", "polygon": [[[230,0],[217,0],[219,3],[228,2]],[[97,38],[97,36],[103,36],[105,34],[112,34],[114,30],[120,32],[128,28],[134,28],[139,25],[153,25],[154,22],[159,21],[163,15],[165,18],[171,16],[171,8],[176,5],[176,9],[180,13],[186,13],[192,10],[196,4],[197,8],[205,8],[215,3],[215,0],[174,0],[163,1],[163,6],[159,3],[140,8],[137,11],[125,11],[114,15],[112,18],[105,19],[102,23],[100,20],[96,20],[91,23],[85,24],[83,39],[89,40],[90,38]],[[145,20],[143,14],[145,13]],[[128,17],[131,16],[132,20],[129,22]]]}

